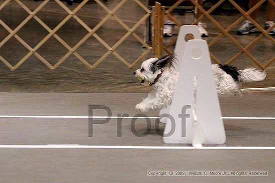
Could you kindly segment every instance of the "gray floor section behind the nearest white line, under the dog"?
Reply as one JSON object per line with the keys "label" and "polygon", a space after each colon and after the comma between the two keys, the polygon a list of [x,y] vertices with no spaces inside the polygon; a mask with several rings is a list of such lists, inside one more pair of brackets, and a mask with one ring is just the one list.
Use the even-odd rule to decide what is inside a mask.
{"label": "gray floor section behind the nearest white line, under the dog", "polygon": [[[88,105],[104,105],[111,116],[127,113],[134,116],[134,106],[144,94],[87,94],[87,93],[1,93],[0,115],[88,116]],[[127,100],[125,100],[127,99]],[[27,105],[26,105],[27,104]],[[243,97],[220,97],[223,117],[274,117],[274,95],[244,94]],[[240,113],[241,111],[241,113]],[[94,110],[93,116],[106,116],[105,110]],[[157,116],[158,111],[146,113]],[[136,120],[136,137],[130,119],[123,119],[121,137],[117,137],[117,120],[93,126],[93,137],[88,137],[88,119],[0,118],[0,145],[123,145],[171,146],[162,142],[164,125],[151,120],[151,131],[146,133],[146,121]],[[224,120],[227,141],[222,146],[275,146],[274,121]],[[182,145],[176,145],[182,146]],[[186,145],[184,145],[186,146]],[[189,146],[189,145],[187,145]]]}

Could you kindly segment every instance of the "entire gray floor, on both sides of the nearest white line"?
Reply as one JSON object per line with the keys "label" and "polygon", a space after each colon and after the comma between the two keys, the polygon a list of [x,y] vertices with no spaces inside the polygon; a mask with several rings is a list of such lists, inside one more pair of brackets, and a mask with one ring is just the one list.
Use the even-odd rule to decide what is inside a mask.
{"label": "entire gray floor, on both sides of the nearest white line", "polygon": [[[106,105],[117,113],[136,114],[134,105],[144,94],[1,93],[0,115],[87,116],[88,105]],[[127,100],[125,100],[127,99]],[[274,95],[244,94],[220,98],[222,116],[273,117]],[[241,112],[240,112],[241,111]],[[94,115],[106,115],[95,111]],[[156,116],[157,111],[147,113]],[[164,144],[154,126],[145,137],[131,133],[123,120],[94,125],[88,137],[87,119],[0,118],[0,145],[121,145],[190,146]],[[152,122],[152,124],[154,124]],[[137,120],[143,133],[146,123]],[[164,125],[160,126],[160,130]],[[227,141],[220,146],[275,146],[274,121],[224,120]],[[208,145],[211,146],[211,145]],[[0,182],[206,182],[273,183],[274,150],[137,150],[137,149],[0,149]],[[268,177],[147,177],[147,170],[268,170]]]}

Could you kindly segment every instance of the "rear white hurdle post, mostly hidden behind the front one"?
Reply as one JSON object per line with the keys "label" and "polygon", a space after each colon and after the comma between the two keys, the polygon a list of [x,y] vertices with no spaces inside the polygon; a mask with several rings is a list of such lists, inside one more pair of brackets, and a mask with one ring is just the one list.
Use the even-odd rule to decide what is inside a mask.
{"label": "rear white hurdle post, mostly hidden behind the front one", "polygon": [[[183,56],[183,50],[186,46],[185,36],[186,34],[192,34],[194,36],[194,39],[201,39],[198,27],[196,25],[182,25],[179,29],[177,40],[175,43],[174,53],[175,57],[179,61],[179,57]],[[175,70],[178,71],[180,62],[178,65],[175,65]],[[161,109],[159,112],[159,115],[161,114],[167,114],[169,112],[169,107],[166,107],[164,109]],[[162,118],[159,121],[160,123],[166,123],[166,118]]]}

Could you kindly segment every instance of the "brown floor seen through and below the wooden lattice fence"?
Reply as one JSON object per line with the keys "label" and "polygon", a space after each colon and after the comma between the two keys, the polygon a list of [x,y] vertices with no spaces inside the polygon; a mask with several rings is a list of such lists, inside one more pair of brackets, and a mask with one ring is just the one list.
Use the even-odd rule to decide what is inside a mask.
{"label": "brown floor seen through and below the wooden lattice fence", "polygon": [[[3,0],[0,0],[2,2]],[[34,9],[41,1],[22,0],[29,8]],[[119,1],[108,0],[104,2],[107,7],[113,8]],[[64,2],[65,3],[65,2]],[[68,6],[73,9],[78,5],[74,3]],[[128,26],[133,26],[135,22],[144,15],[144,10],[137,5],[134,0],[128,0],[116,12]],[[125,16],[126,14],[126,16]],[[61,7],[56,5],[54,1],[50,1],[45,7],[37,13],[49,27],[53,28],[62,20],[67,13]],[[94,1],[89,1],[77,16],[81,18],[89,27],[94,27],[103,17],[106,12],[99,7]],[[0,18],[11,28],[15,28],[25,17],[27,13],[15,2],[10,1],[6,7],[0,11]],[[235,19],[240,16],[239,13],[232,13],[227,16],[223,13],[213,14],[213,17],[227,27]],[[264,8],[261,9],[257,22],[263,25],[265,21]],[[190,13],[184,16],[175,15],[182,23],[188,24],[193,19]],[[204,20],[207,23],[209,37],[207,42],[211,41],[220,31],[207,18]],[[143,36],[143,22],[137,29],[136,34]],[[250,43],[259,33],[251,35],[239,36],[235,30],[240,25],[234,27],[229,33],[238,40],[241,45],[245,46]],[[175,29],[175,33],[177,28]],[[39,40],[46,35],[46,30],[41,27],[35,20],[31,19],[21,30],[18,35],[25,40],[30,46],[35,46]],[[63,25],[57,31],[57,34],[64,39],[70,46],[78,42],[85,34],[86,30],[73,18]],[[108,20],[96,33],[107,44],[113,45],[123,34],[125,29],[115,20]],[[0,40],[7,34],[7,31],[0,26]],[[173,38],[173,37],[172,37]],[[166,44],[172,38],[165,38]],[[149,43],[150,44],[150,43]],[[265,37],[258,44],[252,46],[249,51],[261,63],[275,56],[274,45]],[[58,43],[53,37],[50,38],[41,48],[38,53],[41,54],[51,64],[56,63],[65,53],[66,49]],[[104,48],[94,37],[90,37],[86,43],[77,49],[77,52],[85,58],[89,63],[94,63],[101,55],[106,52]],[[142,52],[145,51],[142,45],[133,37],[129,36],[118,48],[117,52],[127,61],[132,63]],[[221,38],[216,44],[210,47],[210,51],[223,63],[238,52],[238,48],[229,41],[228,38]],[[0,48],[0,55],[11,64],[15,64],[20,58],[27,53],[27,50],[15,39],[11,38]],[[146,58],[151,57],[152,53]],[[235,62],[234,65],[239,68],[255,67],[255,65],[243,54]],[[138,67],[139,64],[136,65]],[[275,86],[274,81],[274,64],[266,69],[267,77],[262,82],[246,84],[243,87],[270,87]],[[74,56],[69,56],[55,71],[50,71],[42,64],[35,56],[31,56],[17,70],[11,72],[5,65],[0,64],[0,91],[1,92],[119,92],[119,93],[140,93],[147,92],[149,89],[140,86],[132,77],[132,70],[128,69],[116,57],[109,55],[94,71],[90,71]]]}

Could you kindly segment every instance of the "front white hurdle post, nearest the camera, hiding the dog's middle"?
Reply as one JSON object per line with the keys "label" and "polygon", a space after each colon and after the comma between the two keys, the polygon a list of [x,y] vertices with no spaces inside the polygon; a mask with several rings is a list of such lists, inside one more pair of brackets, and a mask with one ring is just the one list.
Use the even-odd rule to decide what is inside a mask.
{"label": "front white hurdle post, nearest the camera, hiding the dog's middle", "polygon": [[207,42],[192,39],[186,43],[180,35],[178,39],[183,42],[177,41],[179,77],[168,112],[174,121],[167,120],[163,141],[195,147],[223,144],[225,131]]}

